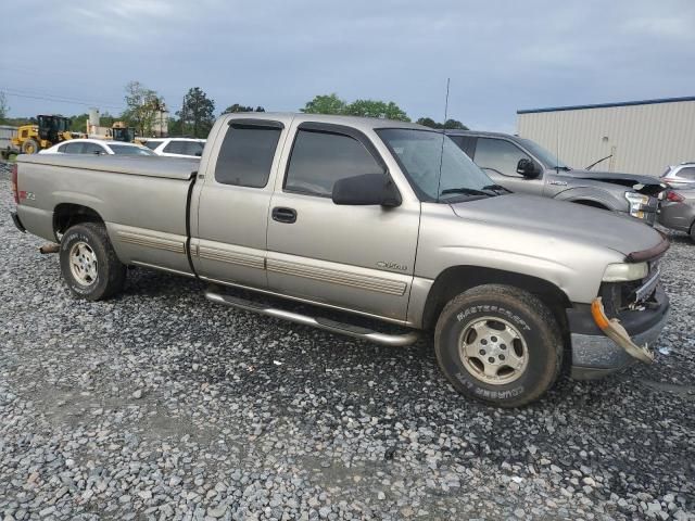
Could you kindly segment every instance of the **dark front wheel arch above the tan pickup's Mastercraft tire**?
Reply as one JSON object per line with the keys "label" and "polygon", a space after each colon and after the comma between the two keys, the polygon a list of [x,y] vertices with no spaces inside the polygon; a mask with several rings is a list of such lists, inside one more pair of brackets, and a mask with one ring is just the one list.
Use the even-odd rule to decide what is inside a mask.
{"label": "dark front wheel arch above the tan pickup's Mastercraft tire", "polygon": [[483,284],[506,284],[538,296],[566,330],[565,309],[572,307],[567,294],[553,282],[530,275],[480,266],[452,266],[442,271],[430,288],[422,313],[422,329],[433,329],[448,301],[459,293]]}

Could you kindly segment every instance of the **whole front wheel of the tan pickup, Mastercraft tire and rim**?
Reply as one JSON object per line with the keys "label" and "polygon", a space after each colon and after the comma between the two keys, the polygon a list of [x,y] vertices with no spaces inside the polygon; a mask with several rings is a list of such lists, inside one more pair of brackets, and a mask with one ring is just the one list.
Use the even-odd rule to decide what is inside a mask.
{"label": "whole front wheel of the tan pickup, Mastercraft tire and rim", "polygon": [[439,365],[458,392],[501,407],[542,396],[563,361],[557,321],[538,297],[486,284],[454,297],[434,331]]}

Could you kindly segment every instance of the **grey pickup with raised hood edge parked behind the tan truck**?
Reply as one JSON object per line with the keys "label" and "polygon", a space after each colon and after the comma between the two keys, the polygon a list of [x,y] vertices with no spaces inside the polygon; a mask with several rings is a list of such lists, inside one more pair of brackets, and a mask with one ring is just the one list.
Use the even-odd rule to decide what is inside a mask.
{"label": "grey pickup with raised hood edge parked behind the tan truck", "polygon": [[655,177],[567,166],[530,139],[500,132],[446,132],[507,190],[609,209],[654,226],[666,185]]}

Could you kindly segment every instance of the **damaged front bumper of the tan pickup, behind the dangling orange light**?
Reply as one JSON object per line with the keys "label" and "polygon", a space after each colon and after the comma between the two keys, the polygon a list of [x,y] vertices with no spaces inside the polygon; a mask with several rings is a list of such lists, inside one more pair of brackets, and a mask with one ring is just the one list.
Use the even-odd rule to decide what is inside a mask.
{"label": "damaged front bumper of the tan pickup, behind the dangling orange light", "polygon": [[[626,312],[620,316],[620,323],[639,346],[652,347],[666,326],[669,298],[660,287],[656,290],[655,301],[646,309]],[[596,326],[589,304],[568,309],[567,317],[572,343],[572,378],[601,378],[637,361]]]}

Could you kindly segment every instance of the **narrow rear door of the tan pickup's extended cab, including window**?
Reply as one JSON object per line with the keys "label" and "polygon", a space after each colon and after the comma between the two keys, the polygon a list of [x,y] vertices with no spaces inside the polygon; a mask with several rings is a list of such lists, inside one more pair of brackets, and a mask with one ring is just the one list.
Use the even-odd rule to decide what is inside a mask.
{"label": "narrow rear door of the tan pickup's extended cab, including window", "polygon": [[267,287],[268,207],[291,120],[235,117],[217,130],[191,205],[191,258],[201,278]]}

